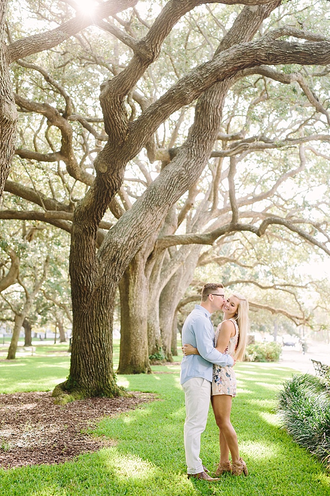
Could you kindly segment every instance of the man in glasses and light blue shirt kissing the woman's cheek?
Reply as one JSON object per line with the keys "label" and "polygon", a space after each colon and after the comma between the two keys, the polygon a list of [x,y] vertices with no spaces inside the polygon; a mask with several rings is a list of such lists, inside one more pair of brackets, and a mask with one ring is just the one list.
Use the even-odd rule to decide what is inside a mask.
{"label": "man in glasses and light blue shirt kissing the woman's cheek", "polygon": [[235,363],[230,355],[224,355],[214,347],[215,333],[210,317],[213,312],[222,309],[224,301],[222,284],[205,284],[201,304],[195,305],[182,327],[182,345],[191,344],[200,354],[183,357],[181,362],[180,383],[186,405],[184,449],[188,479],[219,480],[207,474],[199,453],[210,406],[213,364],[232,367]]}

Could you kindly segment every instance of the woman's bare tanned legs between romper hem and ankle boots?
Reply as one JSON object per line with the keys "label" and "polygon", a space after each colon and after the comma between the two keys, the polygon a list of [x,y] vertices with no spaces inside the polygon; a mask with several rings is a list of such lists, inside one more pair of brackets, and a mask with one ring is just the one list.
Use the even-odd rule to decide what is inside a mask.
{"label": "woman's bare tanned legs between romper hem and ankle boots", "polygon": [[227,394],[212,396],[212,408],[220,430],[220,463],[228,461],[228,449],[232,463],[239,463],[237,435],[230,423],[231,399]]}

